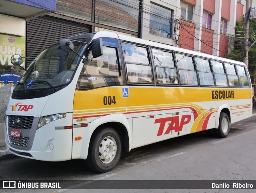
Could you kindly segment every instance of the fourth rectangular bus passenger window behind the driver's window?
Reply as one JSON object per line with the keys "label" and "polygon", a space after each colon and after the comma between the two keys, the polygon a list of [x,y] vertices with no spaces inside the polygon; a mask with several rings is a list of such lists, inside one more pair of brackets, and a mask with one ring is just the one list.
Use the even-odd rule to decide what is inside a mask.
{"label": "fourth rectangular bus passenger window behind the driver's window", "polygon": [[213,74],[209,60],[196,58],[196,65],[199,74],[200,85],[214,86]]}

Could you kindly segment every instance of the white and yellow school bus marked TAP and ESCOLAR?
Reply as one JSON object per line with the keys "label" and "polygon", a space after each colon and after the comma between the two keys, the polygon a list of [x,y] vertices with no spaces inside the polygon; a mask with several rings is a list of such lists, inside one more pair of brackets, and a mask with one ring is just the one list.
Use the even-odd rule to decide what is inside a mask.
{"label": "white and yellow school bus marked TAP and ESCOLAR", "polygon": [[227,137],[231,123],[251,115],[242,62],[112,32],[81,34],[44,50],[16,85],[6,147],[30,159],[86,159],[107,172],[124,150],[199,131]]}

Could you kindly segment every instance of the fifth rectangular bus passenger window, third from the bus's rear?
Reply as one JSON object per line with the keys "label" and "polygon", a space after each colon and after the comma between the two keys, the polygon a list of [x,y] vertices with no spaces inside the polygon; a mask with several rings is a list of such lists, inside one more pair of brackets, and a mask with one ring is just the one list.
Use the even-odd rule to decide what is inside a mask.
{"label": "fifth rectangular bus passenger window, third from the bus's rear", "polygon": [[212,68],[215,76],[216,86],[228,86],[228,80],[226,73],[224,71],[223,64],[221,62],[217,62],[211,60]]}

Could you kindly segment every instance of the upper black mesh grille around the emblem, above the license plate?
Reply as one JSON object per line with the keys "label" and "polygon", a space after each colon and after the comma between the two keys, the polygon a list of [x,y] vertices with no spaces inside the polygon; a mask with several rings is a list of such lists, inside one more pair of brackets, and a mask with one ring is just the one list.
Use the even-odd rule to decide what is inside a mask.
{"label": "upper black mesh grille around the emblem, above the license plate", "polygon": [[[14,125],[16,119],[20,121],[18,121],[18,124]],[[9,115],[8,127],[12,129],[31,129],[33,119],[34,117]]]}

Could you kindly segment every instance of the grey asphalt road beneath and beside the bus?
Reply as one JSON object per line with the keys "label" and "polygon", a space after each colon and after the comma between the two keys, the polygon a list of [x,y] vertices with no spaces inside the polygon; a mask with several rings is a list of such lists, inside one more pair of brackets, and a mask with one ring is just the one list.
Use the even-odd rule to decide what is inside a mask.
{"label": "grey asphalt road beneath and beside the bus", "polygon": [[[0,180],[244,180],[246,183],[256,179],[255,139],[256,117],[250,117],[232,124],[227,138],[194,133],[125,152],[118,167],[108,173],[90,171],[82,159],[46,162],[18,157],[0,161]],[[36,191],[84,192],[79,189],[83,185],[70,181],[67,187],[76,189]],[[15,192],[32,191],[15,189]],[[104,190],[113,191],[120,192]],[[4,189],[3,192],[13,190]],[[122,192],[255,192],[255,189],[126,189]]]}

